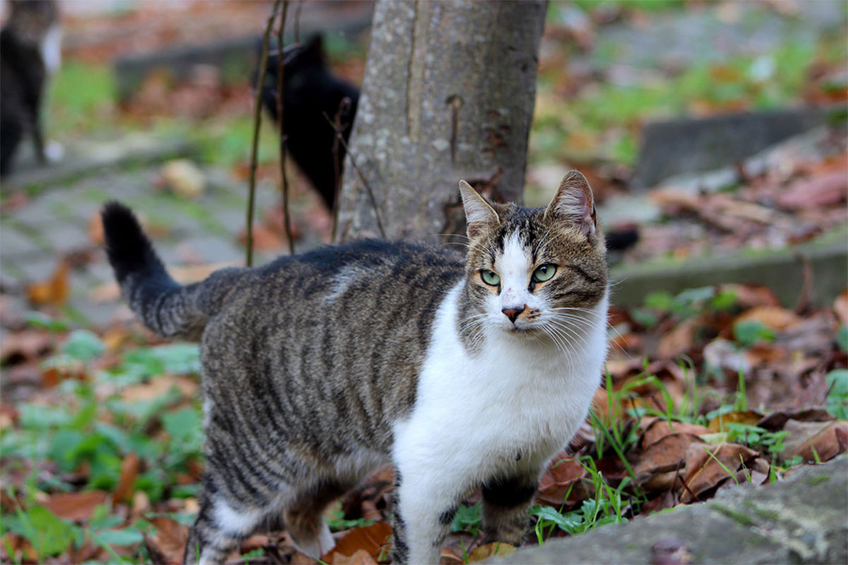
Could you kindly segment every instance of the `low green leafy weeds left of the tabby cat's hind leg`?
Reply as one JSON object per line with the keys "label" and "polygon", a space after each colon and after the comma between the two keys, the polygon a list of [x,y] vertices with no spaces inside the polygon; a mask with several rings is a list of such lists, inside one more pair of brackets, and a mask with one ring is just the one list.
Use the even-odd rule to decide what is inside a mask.
{"label": "low green leafy weeds left of the tabby cat's hind leg", "polygon": [[[36,328],[64,332],[67,324],[43,314],[28,317]],[[142,460],[133,491],[143,491],[153,503],[197,496],[199,485],[180,485],[178,477],[189,472],[188,464],[201,457],[203,432],[199,399],[185,399],[175,389],[147,400],[128,402],[120,395],[127,387],[160,378],[163,374],[197,377],[198,346],[171,344],[130,348],[109,369],[94,369],[106,346],[87,330],[74,330],[60,352],[44,367],[59,372],[83,369],[86,381],[64,379],[58,385],[64,402],[46,410],[41,403],[20,402],[14,429],[0,433],[4,477],[24,477],[19,492],[6,487],[13,506],[0,509],[4,531],[30,540],[39,561],[80,547],[86,535],[109,552],[114,562],[145,562],[142,533],[152,528],[144,521],[125,523],[108,505],[95,509],[84,526],[58,518],[42,505],[47,492],[73,492],[79,485],[64,482],[85,468],[82,490],[114,490],[121,463],[135,453]],[[162,430],[153,434],[152,430]],[[51,469],[46,472],[46,469]],[[20,500],[20,503],[18,502]],[[138,546],[134,557],[120,557],[115,546]],[[126,553],[126,551],[124,551]],[[14,555],[14,553],[13,553]]]}

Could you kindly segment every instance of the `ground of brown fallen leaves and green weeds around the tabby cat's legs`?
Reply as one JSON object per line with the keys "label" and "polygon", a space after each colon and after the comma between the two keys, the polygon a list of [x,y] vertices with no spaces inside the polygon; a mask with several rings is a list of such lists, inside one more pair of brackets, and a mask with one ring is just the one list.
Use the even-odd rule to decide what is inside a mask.
{"label": "ground of brown fallen leaves and green weeds around the tabby cat's legs", "polygon": [[[768,485],[848,447],[848,423],[834,417],[848,409],[848,291],[800,313],[744,285],[648,302],[613,311],[594,417],[544,474],[527,543],[705,501],[727,485]],[[0,356],[0,558],[180,562],[203,470],[196,350],[159,345],[134,324],[98,336],[40,318],[11,336]],[[19,443],[39,436],[43,451]],[[338,544],[323,562],[387,562],[392,485],[382,468],[328,509]],[[460,509],[442,562],[511,551],[481,545],[479,500]],[[26,520],[55,530],[59,545],[28,534]],[[235,558],[315,563],[282,529],[249,538]]]}

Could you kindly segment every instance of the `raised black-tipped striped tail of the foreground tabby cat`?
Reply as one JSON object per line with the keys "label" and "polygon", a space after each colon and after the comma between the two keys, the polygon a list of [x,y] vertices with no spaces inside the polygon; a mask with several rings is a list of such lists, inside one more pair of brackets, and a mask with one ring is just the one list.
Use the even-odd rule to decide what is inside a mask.
{"label": "raised black-tipped striped tail of the foreground tabby cat", "polygon": [[101,217],[109,263],[132,311],[159,335],[198,339],[209,318],[199,300],[203,283],[170,278],[130,208],[108,202]]}

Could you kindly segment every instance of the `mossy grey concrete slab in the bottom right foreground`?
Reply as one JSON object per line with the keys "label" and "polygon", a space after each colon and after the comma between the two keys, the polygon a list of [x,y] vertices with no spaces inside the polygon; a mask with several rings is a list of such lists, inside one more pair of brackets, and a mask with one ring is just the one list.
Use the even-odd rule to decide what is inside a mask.
{"label": "mossy grey concrete slab in the bottom right foreground", "polygon": [[[550,540],[488,563],[845,563],[848,456],[771,485],[719,490],[711,501]],[[668,551],[678,548],[678,553]],[[664,551],[665,550],[665,551]]]}

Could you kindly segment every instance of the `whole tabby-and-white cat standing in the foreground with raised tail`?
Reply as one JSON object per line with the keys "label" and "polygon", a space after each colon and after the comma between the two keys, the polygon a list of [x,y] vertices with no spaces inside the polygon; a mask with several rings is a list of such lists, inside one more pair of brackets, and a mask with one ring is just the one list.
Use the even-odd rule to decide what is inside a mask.
{"label": "whole tabby-and-white cat standing in the foreground with raised tail", "polygon": [[279,518],[321,557],[326,505],[385,462],[393,562],[438,562],[478,486],[486,540],[520,544],[541,474],[600,385],[605,243],[577,171],[546,208],[460,191],[465,256],[368,240],[187,286],[128,208],[103,208],[132,309],[202,344],[206,467],[186,562],[224,562]]}

